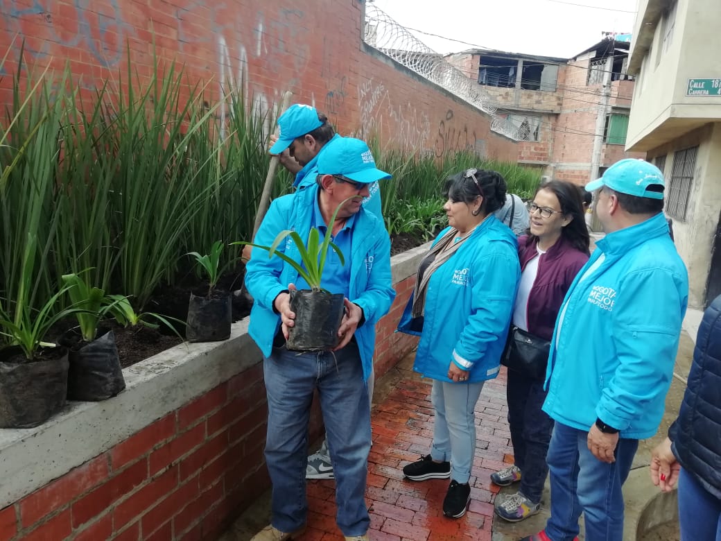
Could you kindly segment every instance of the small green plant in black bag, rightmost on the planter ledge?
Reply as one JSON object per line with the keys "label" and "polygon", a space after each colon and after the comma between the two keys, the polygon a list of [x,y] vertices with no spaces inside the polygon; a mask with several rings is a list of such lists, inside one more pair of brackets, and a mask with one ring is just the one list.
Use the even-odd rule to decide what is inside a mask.
{"label": "small green plant in black bag, rightmost on the planter ledge", "polygon": [[208,279],[208,294],[190,293],[185,338],[189,342],[214,342],[230,338],[231,297],[229,291],[217,288],[218,280],[234,260],[221,266],[223,242],[213,242],[207,255],[188,252],[195,258],[201,273]]}

